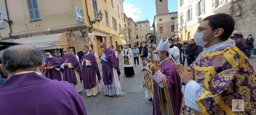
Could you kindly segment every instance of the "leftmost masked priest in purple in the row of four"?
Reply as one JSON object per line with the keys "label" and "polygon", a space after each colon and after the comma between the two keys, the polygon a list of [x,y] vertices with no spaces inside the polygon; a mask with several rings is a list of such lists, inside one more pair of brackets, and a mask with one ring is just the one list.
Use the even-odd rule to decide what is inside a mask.
{"label": "leftmost masked priest in purple in the row of four", "polygon": [[59,81],[62,81],[63,75],[61,73],[61,61],[57,58],[51,55],[50,52],[45,53],[46,60],[44,61],[46,64],[44,66],[44,72],[45,76],[50,79],[57,79]]}

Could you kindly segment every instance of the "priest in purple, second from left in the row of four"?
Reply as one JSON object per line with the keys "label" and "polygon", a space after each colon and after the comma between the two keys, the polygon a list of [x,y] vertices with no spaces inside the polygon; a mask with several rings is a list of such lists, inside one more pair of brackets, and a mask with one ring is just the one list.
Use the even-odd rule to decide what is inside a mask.
{"label": "priest in purple, second from left in the row of four", "polygon": [[69,48],[63,48],[64,56],[61,59],[63,80],[75,85],[78,92],[82,92],[82,73],[75,54],[69,52]]}

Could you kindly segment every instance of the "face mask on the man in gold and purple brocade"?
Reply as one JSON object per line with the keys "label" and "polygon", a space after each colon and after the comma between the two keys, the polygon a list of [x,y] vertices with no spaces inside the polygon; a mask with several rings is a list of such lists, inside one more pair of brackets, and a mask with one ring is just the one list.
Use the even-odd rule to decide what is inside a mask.
{"label": "face mask on the man in gold and purple brocade", "polygon": [[[213,31],[212,31],[213,32]],[[209,32],[210,33],[210,32]],[[208,34],[208,33],[206,33]],[[204,41],[203,40],[203,36],[205,34],[204,33],[199,33],[199,32],[195,32],[194,38],[195,38],[195,43],[201,47],[205,47],[205,45],[207,44],[208,41],[210,41],[211,39],[213,39],[214,37],[212,37],[211,39]]]}

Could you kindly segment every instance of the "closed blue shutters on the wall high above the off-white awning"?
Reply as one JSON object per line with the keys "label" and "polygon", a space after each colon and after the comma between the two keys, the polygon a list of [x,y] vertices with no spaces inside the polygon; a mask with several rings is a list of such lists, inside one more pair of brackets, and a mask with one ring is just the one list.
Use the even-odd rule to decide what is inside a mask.
{"label": "closed blue shutters on the wall high above the off-white awning", "polygon": [[28,5],[28,15],[29,15],[30,21],[41,20],[37,0],[27,0],[27,5]]}

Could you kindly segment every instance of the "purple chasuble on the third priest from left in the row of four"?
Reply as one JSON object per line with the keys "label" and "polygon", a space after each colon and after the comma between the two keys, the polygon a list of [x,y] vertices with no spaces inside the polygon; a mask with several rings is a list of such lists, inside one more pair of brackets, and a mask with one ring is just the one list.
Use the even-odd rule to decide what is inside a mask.
{"label": "purple chasuble on the third priest from left in the row of four", "polygon": [[84,66],[82,67],[82,75],[84,76],[84,88],[86,90],[97,86],[96,75],[98,77],[98,81],[101,80],[101,76],[96,57],[93,53],[89,52],[88,55],[84,54],[80,60],[81,63],[83,62],[83,59],[90,61],[92,64],[92,66],[85,66],[84,62]]}

